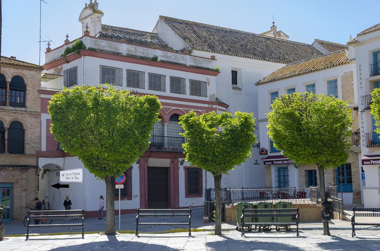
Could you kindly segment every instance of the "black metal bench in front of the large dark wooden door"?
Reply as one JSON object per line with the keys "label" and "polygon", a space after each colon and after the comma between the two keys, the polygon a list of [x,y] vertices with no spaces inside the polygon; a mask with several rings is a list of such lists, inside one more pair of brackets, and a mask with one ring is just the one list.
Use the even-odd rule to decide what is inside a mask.
{"label": "black metal bench in front of the large dark wooden door", "polygon": [[[139,222],[140,218],[188,218],[189,222]],[[167,225],[171,227],[176,227],[180,229],[185,229],[182,227],[177,227],[173,225],[188,225],[189,236],[191,236],[191,207],[190,209],[137,209],[136,216],[136,236],[138,236],[138,231],[142,229],[147,229],[150,227],[144,227],[139,229],[139,225],[153,225],[150,227],[156,227],[159,225]]]}

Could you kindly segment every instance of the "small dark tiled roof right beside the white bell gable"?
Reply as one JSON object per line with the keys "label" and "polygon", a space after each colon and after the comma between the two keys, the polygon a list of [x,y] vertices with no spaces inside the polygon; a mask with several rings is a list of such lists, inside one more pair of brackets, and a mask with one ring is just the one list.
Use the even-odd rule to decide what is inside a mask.
{"label": "small dark tiled roof right beside the white bell gable", "polygon": [[96,35],[98,38],[105,38],[113,41],[120,41],[123,36],[128,44],[153,48],[157,40],[159,49],[167,50],[169,52],[178,52],[169,45],[165,44],[165,42],[158,36],[157,33],[102,24],[101,30]]}

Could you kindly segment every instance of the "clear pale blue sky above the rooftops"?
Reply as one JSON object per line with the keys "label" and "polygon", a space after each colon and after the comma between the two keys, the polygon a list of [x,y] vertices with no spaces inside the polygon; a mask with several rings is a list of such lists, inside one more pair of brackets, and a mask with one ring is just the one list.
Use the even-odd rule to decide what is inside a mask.
{"label": "clear pale blue sky above the rooftops", "polygon": [[[52,39],[55,48],[81,36],[79,14],[90,0],[45,0],[42,3],[41,37]],[[345,44],[350,33],[378,24],[371,1],[168,1],[168,0],[98,0],[105,13],[103,24],[152,31],[159,15],[262,33],[272,25],[290,40],[311,44],[315,38]],[[318,5],[317,5],[318,4]],[[373,13],[372,15],[370,13]],[[2,55],[38,64],[40,1],[2,0]],[[41,64],[46,44],[41,43]]]}

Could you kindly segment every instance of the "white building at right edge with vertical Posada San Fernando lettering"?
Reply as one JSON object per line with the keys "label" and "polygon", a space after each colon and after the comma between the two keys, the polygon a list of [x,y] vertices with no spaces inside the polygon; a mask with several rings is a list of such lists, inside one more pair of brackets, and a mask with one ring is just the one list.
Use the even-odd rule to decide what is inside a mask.
{"label": "white building at right edge with vertical Posada San Fernando lettering", "polygon": [[347,44],[350,59],[356,59],[364,207],[380,207],[380,140],[370,113],[370,93],[380,85],[380,24],[361,31]]}

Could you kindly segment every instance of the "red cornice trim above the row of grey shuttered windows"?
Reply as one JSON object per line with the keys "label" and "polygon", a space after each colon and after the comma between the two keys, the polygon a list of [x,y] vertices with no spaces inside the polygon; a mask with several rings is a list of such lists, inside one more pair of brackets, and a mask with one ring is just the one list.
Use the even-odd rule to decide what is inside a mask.
{"label": "red cornice trim above the row of grey shuttered windows", "polygon": [[71,62],[71,61],[81,58],[81,56],[92,56],[95,58],[103,58],[107,60],[114,60],[114,61],[119,61],[119,62],[124,62],[124,63],[142,64],[146,66],[171,69],[175,71],[191,72],[191,73],[208,75],[208,76],[217,76],[220,73],[217,71],[193,68],[193,67],[182,66],[182,65],[177,65],[177,64],[162,63],[159,61],[144,60],[140,58],[131,58],[129,56],[120,56],[120,55],[108,54],[108,53],[103,53],[103,52],[95,52],[92,50],[81,50],[79,54],[80,55],[73,53],[69,56],[66,56],[65,58],[59,58],[55,61],[44,64],[44,68],[46,70],[51,70],[57,66],[61,66],[62,64],[65,64],[67,60]]}

